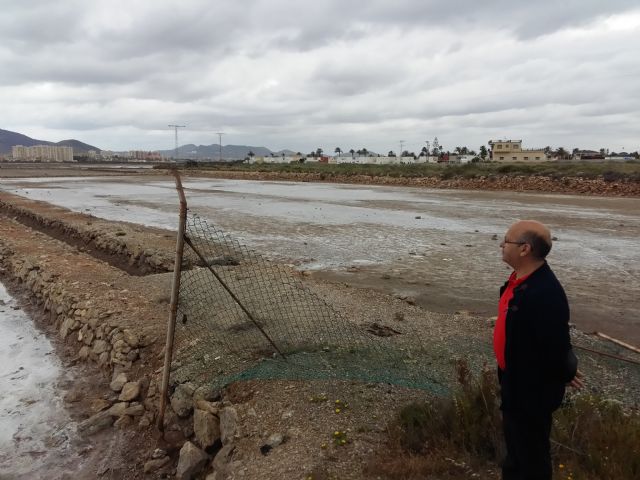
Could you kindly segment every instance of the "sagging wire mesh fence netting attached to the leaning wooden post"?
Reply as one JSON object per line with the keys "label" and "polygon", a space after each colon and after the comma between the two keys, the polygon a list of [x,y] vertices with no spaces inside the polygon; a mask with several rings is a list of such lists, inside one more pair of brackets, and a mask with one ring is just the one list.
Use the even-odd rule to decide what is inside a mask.
{"label": "sagging wire mesh fence netting attached to the leaning wooden post", "polygon": [[[181,274],[172,384],[340,379],[448,390],[452,369],[440,372],[433,364],[434,358],[451,358],[447,345],[377,324],[372,331],[344,318],[293,269],[197,215],[188,216],[185,235],[183,264],[198,266]],[[487,351],[480,344],[470,348]]]}

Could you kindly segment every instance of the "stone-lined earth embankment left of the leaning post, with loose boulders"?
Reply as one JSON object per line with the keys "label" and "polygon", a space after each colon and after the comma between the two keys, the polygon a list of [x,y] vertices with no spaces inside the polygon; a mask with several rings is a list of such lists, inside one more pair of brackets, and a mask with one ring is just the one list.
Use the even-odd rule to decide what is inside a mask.
{"label": "stone-lined earth embankment left of the leaning post, with loose boulders", "polygon": [[[167,237],[175,234],[4,193],[1,201],[0,279],[57,334],[63,357],[95,369],[92,388],[65,396],[81,405],[78,432],[133,434],[127,459],[103,459],[120,462],[112,478],[191,479],[207,471],[222,478],[237,414],[219,391],[174,385],[163,433],[155,428],[172,274],[142,273],[172,269],[174,240]],[[96,252],[108,253],[109,263]]]}

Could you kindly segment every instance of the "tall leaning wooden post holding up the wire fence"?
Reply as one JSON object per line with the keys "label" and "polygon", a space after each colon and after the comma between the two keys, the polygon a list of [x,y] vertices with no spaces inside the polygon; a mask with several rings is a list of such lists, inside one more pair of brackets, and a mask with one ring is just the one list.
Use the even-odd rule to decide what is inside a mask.
{"label": "tall leaning wooden post holding up the wire fence", "polygon": [[182,271],[182,254],[184,252],[185,226],[187,223],[187,199],[184,196],[182,181],[177,170],[173,170],[176,180],[176,190],[180,197],[180,222],[176,237],[176,259],[173,264],[173,282],[171,285],[171,308],[169,310],[169,322],[167,323],[167,341],[164,347],[164,369],[162,371],[162,390],[160,392],[160,411],[158,412],[158,430],[164,429],[164,411],[167,408],[169,397],[169,373],[171,371],[171,357],[173,356],[173,337],[176,330],[176,317],[178,315],[178,297],[180,293],[180,273]]}

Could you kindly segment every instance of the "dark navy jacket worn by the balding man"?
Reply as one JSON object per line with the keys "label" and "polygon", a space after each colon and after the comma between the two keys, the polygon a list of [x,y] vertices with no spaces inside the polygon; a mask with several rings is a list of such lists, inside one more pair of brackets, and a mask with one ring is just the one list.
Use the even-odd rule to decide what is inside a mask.
{"label": "dark navy jacket worn by the balding man", "polygon": [[[507,284],[500,289],[500,295]],[[499,369],[504,411],[549,413],[564,397],[577,363],[569,337],[569,304],[545,262],[513,291],[506,317],[506,371]]]}

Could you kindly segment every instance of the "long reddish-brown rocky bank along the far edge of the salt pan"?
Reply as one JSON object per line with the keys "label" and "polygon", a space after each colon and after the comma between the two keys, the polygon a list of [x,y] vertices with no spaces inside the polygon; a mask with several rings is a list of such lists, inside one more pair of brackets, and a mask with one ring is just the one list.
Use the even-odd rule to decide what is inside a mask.
{"label": "long reddish-brown rocky bank along the far edge of the salt pan", "polygon": [[[195,175],[186,171],[186,175]],[[489,175],[477,178],[392,177],[375,175],[333,175],[299,172],[239,172],[198,170],[198,176],[238,180],[268,180],[294,182],[331,182],[363,185],[397,185],[461,190],[505,190],[513,192],[550,192],[580,195],[620,197],[640,196],[638,181],[606,181],[600,178],[549,177],[541,175]]]}

